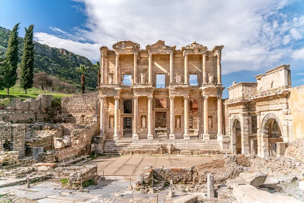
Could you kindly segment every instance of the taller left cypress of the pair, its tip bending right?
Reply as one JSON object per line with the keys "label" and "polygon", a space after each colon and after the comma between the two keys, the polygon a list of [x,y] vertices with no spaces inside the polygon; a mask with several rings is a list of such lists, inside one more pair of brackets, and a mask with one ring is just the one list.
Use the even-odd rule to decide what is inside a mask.
{"label": "taller left cypress of the pair, its tip bending right", "polygon": [[16,84],[17,80],[17,64],[18,64],[18,29],[17,23],[10,33],[9,44],[5,54],[8,69],[5,72],[4,87],[7,88],[7,94],[10,94],[10,88]]}

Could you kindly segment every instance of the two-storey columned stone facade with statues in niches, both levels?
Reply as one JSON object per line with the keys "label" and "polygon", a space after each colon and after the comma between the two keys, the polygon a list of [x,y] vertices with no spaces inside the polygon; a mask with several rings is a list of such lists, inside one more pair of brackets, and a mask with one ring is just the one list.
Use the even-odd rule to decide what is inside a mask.
{"label": "two-storey columned stone facade with statues in niches, both levels", "polygon": [[222,142],[223,47],[177,50],[161,40],[146,49],[131,41],[100,47],[101,135]]}

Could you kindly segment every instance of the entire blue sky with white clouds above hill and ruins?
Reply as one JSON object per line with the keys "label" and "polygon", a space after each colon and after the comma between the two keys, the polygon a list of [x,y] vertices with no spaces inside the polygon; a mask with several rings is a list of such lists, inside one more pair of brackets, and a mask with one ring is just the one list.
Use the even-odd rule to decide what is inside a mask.
{"label": "entire blue sky with white clouds above hill and ruins", "polygon": [[[0,1],[0,26],[35,25],[34,39],[99,59],[99,47],[131,40],[141,48],[165,40],[177,49],[197,41],[222,50],[222,82],[290,64],[292,85],[304,84],[304,1]],[[223,97],[228,96],[224,90]]]}

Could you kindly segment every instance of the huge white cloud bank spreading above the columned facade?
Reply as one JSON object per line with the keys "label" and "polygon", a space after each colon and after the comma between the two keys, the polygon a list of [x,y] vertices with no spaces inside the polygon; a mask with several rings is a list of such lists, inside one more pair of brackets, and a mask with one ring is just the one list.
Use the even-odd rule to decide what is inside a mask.
{"label": "huge white cloud bank spreading above the columned facade", "polygon": [[[98,1],[79,0],[87,16],[86,29],[75,27],[74,35],[52,27],[59,38],[36,33],[35,40],[99,59],[99,46],[131,40],[144,49],[165,40],[181,46],[197,41],[222,50],[222,73],[270,69],[298,57],[292,43],[303,36],[304,16],[282,13],[287,0],[256,1]],[[76,8],[78,9],[78,8]],[[294,17],[296,16],[296,17]],[[92,42],[81,43],[84,41]],[[284,45],[288,48],[282,48]],[[294,56],[295,55],[295,56]]]}

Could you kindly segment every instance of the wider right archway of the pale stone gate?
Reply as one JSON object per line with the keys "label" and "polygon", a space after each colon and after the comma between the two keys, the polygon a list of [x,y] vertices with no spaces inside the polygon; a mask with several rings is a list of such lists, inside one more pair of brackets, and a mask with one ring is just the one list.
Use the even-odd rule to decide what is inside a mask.
{"label": "wider right archway of the pale stone gate", "polygon": [[275,114],[270,113],[264,117],[261,127],[261,133],[268,135],[269,156],[276,156],[277,143],[284,142],[281,129],[281,122]]}

